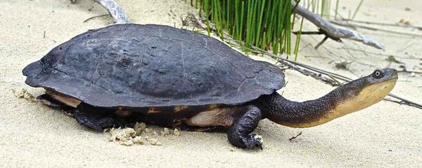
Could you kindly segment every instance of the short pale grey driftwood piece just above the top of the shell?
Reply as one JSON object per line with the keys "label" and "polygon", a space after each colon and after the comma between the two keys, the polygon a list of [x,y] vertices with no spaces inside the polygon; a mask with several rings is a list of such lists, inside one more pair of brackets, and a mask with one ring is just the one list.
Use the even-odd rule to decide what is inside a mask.
{"label": "short pale grey driftwood piece just above the top of the shell", "polygon": [[101,6],[108,10],[110,13],[111,18],[113,18],[115,24],[125,24],[130,23],[129,18],[127,18],[126,13],[124,10],[120,8],[119,5],[114,0],[94,0],[97,3],[100,3]]}

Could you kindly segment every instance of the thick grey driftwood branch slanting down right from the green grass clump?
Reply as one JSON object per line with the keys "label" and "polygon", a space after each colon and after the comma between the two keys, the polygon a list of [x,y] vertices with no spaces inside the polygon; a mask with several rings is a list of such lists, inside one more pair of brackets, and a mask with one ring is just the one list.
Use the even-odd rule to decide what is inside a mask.
{"label": "thick grey driftwood branch slanting down right from the green grass clump", "polygon": [[292,7],[295,8],[294,10],[295,13],[298,13],[298,15],[301,15],[303,18],[314,23],[314,25],[316,25],[316,27],[319,27],[319,29],[324,31],[327,36],[359,41],[366,45],[371,45],[374,48],[378,48],[378,49],[385,48],[384,45],[382,45],[381,43],[378,43],[377,41],[374,41],[372,38],[358,34],[357,32],[352,31],[350,29],[345,29],[343,27],[335,27],[333,24],[324,20],[319,15],[312,13],[311,11],[307,10],[306,8],[303,8],[300,5],[297,6],[295,1],[291,1],[291,2],[292,2]]}

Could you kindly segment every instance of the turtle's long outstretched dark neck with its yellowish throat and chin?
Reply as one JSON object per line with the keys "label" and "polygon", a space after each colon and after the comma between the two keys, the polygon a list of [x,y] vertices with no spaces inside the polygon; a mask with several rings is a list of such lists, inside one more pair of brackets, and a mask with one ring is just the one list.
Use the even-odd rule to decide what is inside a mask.
{"label": "turtle's long outstretched dark neck with its yellowish throat and chin", "polygon": [[264,118],[280,125],[313,127],[381,101],[396,80],[371,85],[363,79],[355,80],[306,102],[293,102],[274,92],[261,96],[253,104],[261,109]]}

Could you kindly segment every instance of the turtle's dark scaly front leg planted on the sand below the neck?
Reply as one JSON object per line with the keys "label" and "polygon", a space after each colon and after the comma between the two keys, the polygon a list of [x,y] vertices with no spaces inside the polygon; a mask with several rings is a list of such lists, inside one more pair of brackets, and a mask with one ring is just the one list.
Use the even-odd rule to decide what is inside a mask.
{"label": "turtle's dark scaly front leg planted on the sand below the neck", "polygon": [[257,106],[246,106],[245,113],[241,113],[229,127],[228,138],[231,144],[239,148],[251,149],[254,146],[262,149],[262,138],[251,134],[261,120],[261,111]]}

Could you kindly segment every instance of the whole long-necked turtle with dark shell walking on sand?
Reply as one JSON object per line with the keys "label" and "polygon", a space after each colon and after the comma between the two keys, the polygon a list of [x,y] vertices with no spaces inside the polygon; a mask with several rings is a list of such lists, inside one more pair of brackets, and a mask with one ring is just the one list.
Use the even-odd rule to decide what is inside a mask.
{"label": "whole long-necked turtle with dark shell walking on sand", "polygon": [[23,69],[37,99],[101,131],[144,122],[191,131],[225,130],[239,148],[261,148],[262,119],[313,127],[380,102],[395,69],[376,69],[319,99],[276,91],[283,71],[222,41],[165,25],[110,25],[79,34]]}

